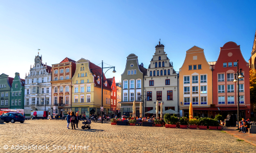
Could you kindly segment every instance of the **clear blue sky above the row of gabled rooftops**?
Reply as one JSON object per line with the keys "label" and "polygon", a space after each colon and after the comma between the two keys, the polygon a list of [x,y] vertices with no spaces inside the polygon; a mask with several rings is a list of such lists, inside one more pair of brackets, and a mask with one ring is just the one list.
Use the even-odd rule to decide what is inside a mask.
{"label": "clear blue sky above the row of gabled rooftops", "polygon": [[204,49],[216,61],[228,41],[248,62],[256,30],[256,1],[1,1],[0,73],[25,78],[37,49],[43,62],[69,57],[116,66],[106,77],[121,80],[134,53],[147,68],[159,38],[174,69],[186,50]]}

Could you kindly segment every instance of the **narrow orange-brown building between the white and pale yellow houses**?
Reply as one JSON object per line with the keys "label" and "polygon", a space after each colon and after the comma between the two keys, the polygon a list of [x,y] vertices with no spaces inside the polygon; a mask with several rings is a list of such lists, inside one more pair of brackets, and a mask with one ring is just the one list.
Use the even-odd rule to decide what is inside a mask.
{"label": "narrow orange-brown building between the white and pale yellow houses", "polygon": [[68,115],[71,111],[72,77],[75,73],[76,61],[63,59],[58,64],[52,64],[52,110],[53,116]]}

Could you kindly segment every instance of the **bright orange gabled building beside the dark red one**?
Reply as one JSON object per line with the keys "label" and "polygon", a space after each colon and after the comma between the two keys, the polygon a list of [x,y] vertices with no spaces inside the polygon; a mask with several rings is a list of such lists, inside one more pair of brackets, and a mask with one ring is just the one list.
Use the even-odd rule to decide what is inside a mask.
{"label": "bright orange gabled building beside the dark red one", "polygon": [[204,56],[204,49],[194,46],[186,51],[179,71],[180,116],[188,117],[189,104],[194,116],[210,117],[212,111],[212,66]]}

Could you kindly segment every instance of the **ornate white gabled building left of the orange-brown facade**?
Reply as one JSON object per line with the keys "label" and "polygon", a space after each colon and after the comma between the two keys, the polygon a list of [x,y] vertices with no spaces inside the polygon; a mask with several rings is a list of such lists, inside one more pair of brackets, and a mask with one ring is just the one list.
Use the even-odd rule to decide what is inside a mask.
{"label": "ornate white gabled building left of the orange-brown facade", "polygon": [[24,109],[51,112],[51,70],[52,67],[42,63],[42,56],[35,57],[33,67],[25,77]]}

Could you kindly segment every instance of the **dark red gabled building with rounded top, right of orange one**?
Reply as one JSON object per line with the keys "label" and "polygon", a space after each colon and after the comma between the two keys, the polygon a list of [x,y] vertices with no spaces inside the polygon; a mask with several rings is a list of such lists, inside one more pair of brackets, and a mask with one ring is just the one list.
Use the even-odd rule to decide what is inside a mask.
{"label": "dark red gabled building with rounded top, right of orange one", "polygon": [[[237,62],[238,60],[238,62]],[[242,68],[243,79],[239,79],[240,117],[250,117],[250,84],[249,63],[244,60],[240,45],[227,42],[220,48],[220,55],[216,64],[212,67],[213,115],[235,115],[238,111],[238,87],[234,83],[234,74],[237,68]]]}

